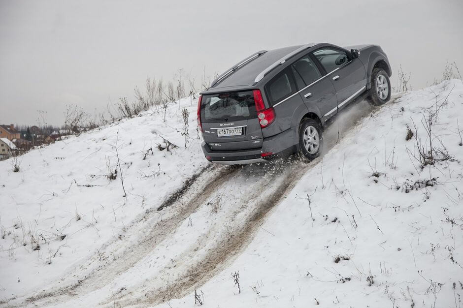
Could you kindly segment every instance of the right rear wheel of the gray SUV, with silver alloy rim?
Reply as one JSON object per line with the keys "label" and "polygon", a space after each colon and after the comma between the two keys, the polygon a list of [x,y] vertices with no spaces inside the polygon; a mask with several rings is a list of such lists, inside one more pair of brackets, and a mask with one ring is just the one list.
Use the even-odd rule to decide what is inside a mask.
{"label": "right rear wheel of the gray SUV, with silver alloy rim", "polygon": [[323,149],[322,125],[314,119],[305,119],[299,125],[299,151],[303,160],[313,160],[320,156]]}

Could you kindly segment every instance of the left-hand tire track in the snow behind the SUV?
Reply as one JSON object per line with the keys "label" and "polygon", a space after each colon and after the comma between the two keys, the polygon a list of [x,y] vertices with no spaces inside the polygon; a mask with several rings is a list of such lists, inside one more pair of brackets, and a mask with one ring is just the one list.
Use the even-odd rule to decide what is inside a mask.
{"label": "left-hand tire track in the snow behind the SUV", "polygon": [[[75,277],[73,280],[77,281],[73,283],[57,289],[44,290],[27,298],[26,303],[46,300],[46,305],[53,305],[66,301],[66,298],[76,294],[85,294],[104,287],[115,277],[130,269],[154,246],[173,233],[182,220],[188,218],[198,206],[207,200],[218,185],[228,181],[236,171],[237,169],[229,166],[209,165],[202,169],[199,174],[186,181],[188,187],[183,185],[167,199],[167,201],[170,200],[170,204],[166,202],[162,204],[163,207],[171,206],[172,211],[169,213],[159,212],[158,206],[147,210],[132,222],[126,232],[129,235],[123,237],[122,241],[113,241],[100,249],[101,254],[110,256],[104,263],[97,265],[95,269],[83,277]],[[101,262],[98,256],[94,256],[92,260],[85,262],[85,267],[81,266],[80,270],[85,271],[92,263]]]}

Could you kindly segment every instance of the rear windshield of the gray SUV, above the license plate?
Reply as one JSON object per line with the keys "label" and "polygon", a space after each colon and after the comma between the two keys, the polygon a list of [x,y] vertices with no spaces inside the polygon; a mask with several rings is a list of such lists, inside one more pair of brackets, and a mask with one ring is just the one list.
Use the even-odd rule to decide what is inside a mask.
{"label": "rear windshield of the gray SUV, above the license plate", "polygon": [[201,122],[238,121],[256,117],[256,104],[252,91],[202,96]]}

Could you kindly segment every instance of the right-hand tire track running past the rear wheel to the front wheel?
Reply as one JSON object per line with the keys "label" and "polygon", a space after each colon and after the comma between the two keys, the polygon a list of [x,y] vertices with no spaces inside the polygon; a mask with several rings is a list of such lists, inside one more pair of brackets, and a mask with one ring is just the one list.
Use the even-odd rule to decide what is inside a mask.
{"label": "right-hand tire track running past the rear wheel to the front wheel", "polygon": [[[365,101],[359,101],[341,114],[336,122],[329,126],[325,132],[327,140],[324,153],[331,150],[338,141],[338,138],[342,138],[344,133],[354,127],[360,119],[369,115],[373,110]],[[135,292],[121,294],[101,304],[109,305],[114,300],[117,300],[122,306],[152,306],[161,304],[171,298],[182,298],[192,293],[196,288],[224,270],[228,264],[232,263],[239,252],[252,241],[254,234],[271,209],[279,204],[280,200],[293,189],[307,170],[317,165],[321,161],[321,158],[319,157],[310,163],[301,161],[291,162],[291,160],[280,161],[281,165],[276,168],[277,172],[274,172],[270,178],[270,181],[275,181],[273,185],[264,183],[265,181],[253,183],[254,190],[265,191],[267,197],[259,198],[255,194],[251,194],[248,199],[242,200],[243,206],[254,207],[254,210],[245,216],[242,223],[235,224],[232,230],[223,228],[225,230],[223,230],[224,232],[222,232],[219,240],[216,239],[217,235],[215,235],[214,239],[211,239],[210,233],[208,233],[198,238],[196,245],[189,247],[195,253],[201,250],[206,251],[201,259],[191,264],[190,256],[192,251],[185,251],[176,260],[172,268],[157,273],[157,277],[153,278],[157,281],[153,282],[152,278],[150,278],[150,282],[148,283],[143,283],[136,287],[132,286],[132,288],[136,288]],[[249,171],[248,169],[251,168],[253,167],[244,167],[242,173],[245,173],[246,170]],[[265,167],[261,172],[266,172]],[[248,184],[244,182],[243,185]],[[245,188],[244,186],[238,186],[235,190],[244,191],[246,190]],[[210,247],[207,244],[210,244],[212,240],[215,240],[216,244]],[[174,280],[165,282],[165,278],[159,277],[174,277]]]}

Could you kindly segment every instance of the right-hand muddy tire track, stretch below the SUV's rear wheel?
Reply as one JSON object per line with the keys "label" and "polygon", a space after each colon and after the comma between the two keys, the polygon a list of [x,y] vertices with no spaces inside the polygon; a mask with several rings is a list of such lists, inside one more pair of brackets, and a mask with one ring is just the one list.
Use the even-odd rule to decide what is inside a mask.
{"label": "right-hand muddy tire track, stretch below the SUV's rear wheel", "polygon": [[[232,229],[223,228],[220,236],[208,233],[197,241],[197,245],[190,246],[190,249],[195,253],[206,252],[202,254],[200,260],[191,264],[189,259],[192,251],[184,252],[175,266],[156,275],[159,283],[152,285],[153,282],[150,278],[150,282],[143,284],[141,290],[137,286],[135,293],[122,294],[120,297],[110,298],[101,304],[110,305],[113,300],[116,300],[122,306],[152,306],[161,304],[173,297],[181,298],[188,295],[195,288],[225,269],[238,255],[238,252],[248,246],[265,216],[286,193],[292,190],[305,172],[319,161],[320,159],[311,163],[300,161],[288,163],[284,161],[281,168],[278,168],[280,170],[275,172],[276,177],[272,176],[270,179],[266,179],[266,181],[273,183],[262,183],[264,181],[253,183],[254,188],[266,186],[265,196],[260,196],[261,191],[259,191],[257,194],[251,195],[249,199],[242,200],[243,206],[253,208],[247,213],[245,219],[240,219],[239,222],[233,224]],[[247,185],[247,183],[243,183],[243,185]],[[241,188],[244,189],[244,187]],[[208,245],[211,242],[214,243],[213,246]],[[174,277],[174,280],[165,284],[160,277],[164,277],[164,279],[165,277]],[[151,288],[152,286],[155,288]]]}

